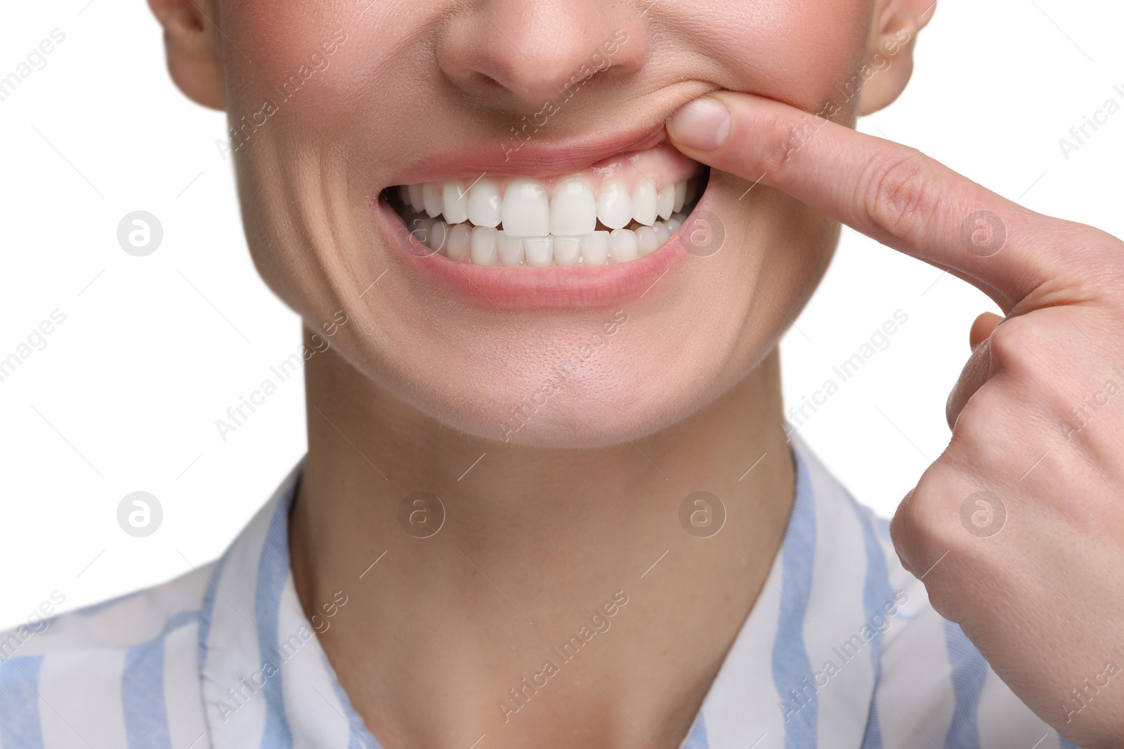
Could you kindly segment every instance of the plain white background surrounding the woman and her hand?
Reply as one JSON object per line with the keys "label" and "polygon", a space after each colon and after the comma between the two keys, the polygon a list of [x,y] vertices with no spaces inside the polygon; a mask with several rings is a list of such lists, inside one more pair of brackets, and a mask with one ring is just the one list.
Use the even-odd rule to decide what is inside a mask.
{"label": "plain white background surrounding the woman and her hand", "polygon": [[[0,101],[0,358],[58,309],[63,325],[0,383],[0,625],[58,590],[64,609],[151,585],[221,552],[305,449],[293,377],[223,442],[215,420],[299,345],[297,317],[255,274],[224,118],[164,68],[143,2],[9,3],[0,76],[66,34]],[[916,146],[1024,204],[1124,236],[1124,112],[1067,161],[1058,145],[1124,97],[1124,7],[1099,0],[942,0],[914,81],[865,131]],[[164,228],[144,258],[125,213]],[[892,512],[948,440],[944,400],[973,317],[995,305],[940,271],[844,230],[783,344],[799,404],[895,310],[909,321],[801,435],[863,502]],[[837,378],[836,378],[837,380]],[[163,504],[156,535],[117,526],[127,493]]]}

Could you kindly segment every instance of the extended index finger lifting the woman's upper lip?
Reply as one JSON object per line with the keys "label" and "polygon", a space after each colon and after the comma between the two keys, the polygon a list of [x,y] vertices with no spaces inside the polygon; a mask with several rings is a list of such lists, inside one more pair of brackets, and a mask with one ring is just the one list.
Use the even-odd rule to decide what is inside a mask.
{"label": "extended index finger lifting the woman's upper lip", "polygon": [[767,184],[878,241],[948,270],[1007,312],[1058,268],[1044,216],[915,148],[788,104],[722,91],[668,120],[681,152]]}

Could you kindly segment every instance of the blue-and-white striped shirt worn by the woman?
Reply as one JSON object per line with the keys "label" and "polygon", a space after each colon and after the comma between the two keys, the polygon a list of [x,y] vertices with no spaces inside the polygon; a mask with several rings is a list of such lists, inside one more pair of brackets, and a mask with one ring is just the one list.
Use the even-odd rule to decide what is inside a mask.
{"label": "blue-and-white striped shirt worn by the woman", "polygon": [[[785,539],[683,749],[1072,747],[794,439]],[[0,749],[375,748],[297,599],[300,468],[216,563],[0,634]]]}

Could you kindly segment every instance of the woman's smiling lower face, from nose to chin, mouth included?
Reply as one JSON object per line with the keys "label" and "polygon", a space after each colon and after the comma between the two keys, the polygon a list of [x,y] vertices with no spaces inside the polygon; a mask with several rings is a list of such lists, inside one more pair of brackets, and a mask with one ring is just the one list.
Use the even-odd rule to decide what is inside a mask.
{"label": "woman's smiling lower face, from nose to chin, mouth included", "polygon": [[359,372],[447,426],[542,446],[651,433],[773,349],[837,237],[781,193],[706,181],[663,121],[715,89],[853,121],[873,12],[220,3],[254,261]]}

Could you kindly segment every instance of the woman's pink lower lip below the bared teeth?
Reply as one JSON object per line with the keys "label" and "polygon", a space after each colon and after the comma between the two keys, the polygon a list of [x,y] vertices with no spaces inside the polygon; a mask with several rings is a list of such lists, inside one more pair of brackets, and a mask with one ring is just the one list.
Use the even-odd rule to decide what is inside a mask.
{"label": "woman's pink lower lip below the bared teeth", "polygon": [[[696,210],[705,200],[704,192]],[[413,273],[465,302],[501,312],[588,309],[638,299],[690,255],[683,240],[686,232],[679,227],[651,255],[628,263],[566,268],[471,265],[453,262],[417,241],[382,198],[374,211],[395,255]],[[689,221],[690,217],[683,226]]]}

